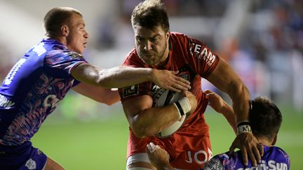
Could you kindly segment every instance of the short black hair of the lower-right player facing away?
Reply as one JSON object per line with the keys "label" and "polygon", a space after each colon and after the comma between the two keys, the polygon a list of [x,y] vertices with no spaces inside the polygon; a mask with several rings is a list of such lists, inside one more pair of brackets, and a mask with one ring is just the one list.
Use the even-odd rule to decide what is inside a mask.
{"label": "short black hair of the lower-right player facing away", "polygon": [[281,127],[282,115],[273,101],[266,97],[256,97],[251,101],[250,125],[255,136],[274,139]]}

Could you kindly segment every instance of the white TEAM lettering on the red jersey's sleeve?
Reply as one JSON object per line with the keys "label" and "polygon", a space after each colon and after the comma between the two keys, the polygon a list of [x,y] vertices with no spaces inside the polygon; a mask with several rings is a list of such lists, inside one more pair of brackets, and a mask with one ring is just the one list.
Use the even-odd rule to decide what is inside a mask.
{"label": "white TEAM lettering on the red jersey's sleeve", "polygon": [[213,53],[210,50],[208,50],[208,48],[202,49],[202,45],[200,44],[192,43],[190,45],[189,51],[191,52],[191,55],[198,57],[198,59],[205,60],[209,66],[211,66],[215,62],[216,56],[213,55]]}

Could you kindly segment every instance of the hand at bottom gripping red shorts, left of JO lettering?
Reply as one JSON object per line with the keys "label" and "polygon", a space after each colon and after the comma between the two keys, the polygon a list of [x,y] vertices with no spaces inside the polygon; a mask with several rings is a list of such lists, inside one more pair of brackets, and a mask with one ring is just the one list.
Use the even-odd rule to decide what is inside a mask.
{"label": "hand at bottom gripping red shorts, left of JO lettering", "polygon": [[147,144],[146,152],[154,167],[158,169],[161,167],[169,167],[170,156],[166,150],[163,150],[160,146],[155,146],[154,143],[151,142]]}

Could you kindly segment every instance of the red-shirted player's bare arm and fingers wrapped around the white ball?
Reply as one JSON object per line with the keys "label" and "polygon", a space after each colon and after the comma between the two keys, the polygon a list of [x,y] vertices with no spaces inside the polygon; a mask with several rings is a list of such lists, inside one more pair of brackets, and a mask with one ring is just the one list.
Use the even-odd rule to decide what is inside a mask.
{"label": "red-shirted player's bare arm and fingers wrapped around the white ball", "polygon": [[[191,92],[185,91],[184,96],[189,99],[191,111],[196,109],[196,97]],[[180,112],[174,104],[152,107],[153,99],[149,95],[141,95],[123,101],[123,110],[126,113],[130,127],[138,138],[153,136],[163,129],[170,127],[180,120]]]}

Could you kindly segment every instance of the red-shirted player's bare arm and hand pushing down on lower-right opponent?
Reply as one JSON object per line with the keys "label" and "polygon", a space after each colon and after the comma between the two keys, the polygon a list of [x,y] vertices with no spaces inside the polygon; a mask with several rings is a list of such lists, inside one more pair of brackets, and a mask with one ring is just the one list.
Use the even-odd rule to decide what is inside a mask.
{"label": "red-shirted player's bare arm and hand pushing down on lower-right opponent", "polygon": [[[231,67],[223,59],[220,59],[217,67],[207,79],[231,97],[236,115],[236,123],[248,122],[250,94],[242,80]],[[248,155],[254,165],[257,165],[257,162],[260,163],[263,148],[251,132],[238,134],[231,145],[230,151],[233,151],[235,148],[242,150],[244,164],[248,164]]]}

